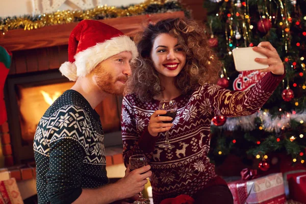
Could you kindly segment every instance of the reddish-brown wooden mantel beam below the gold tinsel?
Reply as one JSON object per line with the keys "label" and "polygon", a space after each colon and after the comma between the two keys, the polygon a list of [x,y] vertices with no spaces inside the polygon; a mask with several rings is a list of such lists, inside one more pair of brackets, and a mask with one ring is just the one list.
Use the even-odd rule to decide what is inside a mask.
{"label": "reddish-brown wooden mantel beam below the gold tinsel", "polygon": [[[148,20],[157,22],[161,19],[175,17],[183,18],[184,12],[109,18],[99,21],[121,30],[126,35],[134,36],[137,32],[143,30],[146,25],[144,23],[147,23]],[[23,29],[10,30],[4,36],[0,36],[0,45],[10,51],[66,45],[72,29],[77,24],[78,22],[50,25],[30,31],[24,31]]]}

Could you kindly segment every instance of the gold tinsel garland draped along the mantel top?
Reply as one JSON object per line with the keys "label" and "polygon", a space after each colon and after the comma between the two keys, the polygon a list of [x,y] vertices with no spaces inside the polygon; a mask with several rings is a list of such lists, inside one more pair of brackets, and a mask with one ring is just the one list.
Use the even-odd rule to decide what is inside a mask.
{"label": "gold tinsel garland draped along the mantel top", "polygon": [[177,6],[177,8],[181,8],[181,10],[183,10],[182,6],[173,0],[146,0],[144,3],[129,6],[127,8],[105,5],[97,6],[88,10],[64,10],[49,14],[41,14],[34,17],[25,16],[3,18],[0,19],[0,32],[5,35],[6,32],[13,29],[23,28],[24,30],[32,30],[43,28],[48,25],[81,21],[83,19],[105,19],[141,15],[144,14],[149,5],[156,4],[157,6],[164,6],[166,3],[173,3]]}

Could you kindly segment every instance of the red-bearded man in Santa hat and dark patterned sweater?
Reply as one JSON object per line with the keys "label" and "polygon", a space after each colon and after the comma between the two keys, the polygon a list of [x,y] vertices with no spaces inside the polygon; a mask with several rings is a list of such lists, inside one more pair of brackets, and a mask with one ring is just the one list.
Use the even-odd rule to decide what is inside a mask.
{"label": "red-bearded man in Santa hat and dark patterned sweater", "polygon": [[35,133],[38,203],[110,203],[144,188],[150,166],[127,168],[123,179],[106,185],[103,129],[94,111],[107,94],[122,94],[137,55],[135,43],[107,24],[83,20],[73,29],[60,71],[75,85],[48,108]]}

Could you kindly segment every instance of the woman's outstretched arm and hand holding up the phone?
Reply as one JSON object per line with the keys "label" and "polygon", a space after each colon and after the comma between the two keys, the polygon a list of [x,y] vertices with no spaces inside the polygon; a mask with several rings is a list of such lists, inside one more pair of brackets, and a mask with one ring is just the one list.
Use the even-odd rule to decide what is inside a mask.
{"label": "woman's outstretched arm and hand holding up the phone", "polygon": [[284,79],[283,62],[269,42],[261,42],[254,50],[268,57],[256,59],[259,63],[267,64],[268,68],[260,71],[268,73],[247,91],[230,91],[216,85],[204,86],[202,94],[210,99],[213,116],[237,117],[255,113]]}

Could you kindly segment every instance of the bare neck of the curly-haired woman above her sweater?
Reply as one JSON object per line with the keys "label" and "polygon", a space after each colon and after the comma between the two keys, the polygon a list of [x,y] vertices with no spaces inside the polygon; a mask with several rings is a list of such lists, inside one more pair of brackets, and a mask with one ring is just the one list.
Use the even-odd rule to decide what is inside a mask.
{"label": "bare neck of the curly-haired woman above her sweater", "polygon": [[164,87],[164,90],[155,97],[157,100],[165,100],[165,99],[173,99],[180,95],[182,92],[178,89],[174,84],[175,78],[168,78],[164,76],[160,76],[160,84],[161,87]]}

